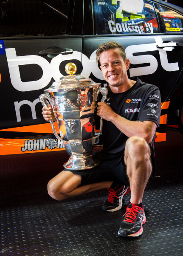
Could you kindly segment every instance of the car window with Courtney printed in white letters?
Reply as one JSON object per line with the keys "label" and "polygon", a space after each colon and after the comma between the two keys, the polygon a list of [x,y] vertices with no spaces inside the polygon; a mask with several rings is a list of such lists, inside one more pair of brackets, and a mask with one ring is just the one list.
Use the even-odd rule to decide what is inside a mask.
{"label": "car window with Courtney printed in white letters", "polygon": [[159,32],[155,9],[149,1],[93,0],[93,9],[96,35]]}

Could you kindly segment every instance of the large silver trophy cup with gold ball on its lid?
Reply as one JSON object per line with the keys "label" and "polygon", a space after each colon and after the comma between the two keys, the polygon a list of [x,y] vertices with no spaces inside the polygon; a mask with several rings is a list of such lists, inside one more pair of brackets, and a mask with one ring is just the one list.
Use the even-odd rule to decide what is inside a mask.
{"label": "large silver trophy cup with gold ball on its lid", "polygon": [[101,84],[93,83],[76,73],[76,65],[68,63],[65,66],[68,76],[55,81],[45,93],[39,96],[42,105],[52,105],[56,117],[60,136],[56,133],[53,120],[50,120],[53,133],[58,140],[63,140],[65,150],[70,155],[65,169],[82,170],[93,168],[99,162],[92,158],[93,145],[102,131],[102,118],[100,131],[94,132],[94,111],[99,93],[104,102],[108,93]]}

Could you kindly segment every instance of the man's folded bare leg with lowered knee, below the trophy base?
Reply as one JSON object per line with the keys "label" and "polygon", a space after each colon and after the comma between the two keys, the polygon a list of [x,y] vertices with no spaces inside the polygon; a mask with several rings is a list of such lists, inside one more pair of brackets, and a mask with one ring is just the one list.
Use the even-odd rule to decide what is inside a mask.
{"label": "man's folded bare leg with lowered knee, below the trophy base", "polygon": [[109,188],[113,183],[113,181],[103,181],[79,186],[81,180],[82,178],[80,175],[75,175],[72,172],[64,170],[48,182],[48,194],[56,200],[63,200],[98,189]]}

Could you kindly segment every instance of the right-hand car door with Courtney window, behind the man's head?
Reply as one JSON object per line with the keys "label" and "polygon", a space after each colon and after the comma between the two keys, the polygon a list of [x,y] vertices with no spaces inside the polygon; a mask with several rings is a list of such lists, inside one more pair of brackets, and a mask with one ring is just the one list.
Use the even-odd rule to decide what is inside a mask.
{"label": "right-hand car door with Courtney window, behind the man's head", "polygon": [[93,27],[84,28],[83,43],[83,53],[90,67],[87,75],[90,73],[94,81],[105,84],[95,64],[96,49],[107,41],[122,44],[130,59],[129,78],[138,76],[160,88],[163,107],[157,141],[165,140],[167,99],[178,86],[177,81],[183,78],[183,9],[175,10],[175,6],[162,1],[86,0],[85,6],[89,2],[93,10]]}

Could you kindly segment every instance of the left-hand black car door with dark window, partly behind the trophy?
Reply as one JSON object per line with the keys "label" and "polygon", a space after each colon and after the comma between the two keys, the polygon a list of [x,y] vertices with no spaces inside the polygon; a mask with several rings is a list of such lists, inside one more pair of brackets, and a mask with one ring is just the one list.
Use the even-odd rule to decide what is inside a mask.
{"label": "left-hand black car door with dark window, partly behind the trophy", "polygon": [[0,2],[1,138],[48,132],[35,126],[45,123],[39,95],[67,75],[68,62],[81,73],[82,9],[74,0]]}

